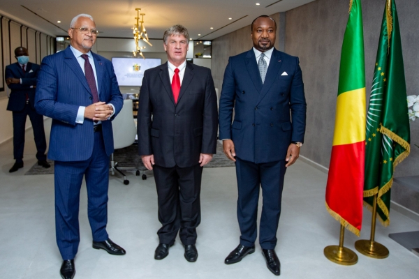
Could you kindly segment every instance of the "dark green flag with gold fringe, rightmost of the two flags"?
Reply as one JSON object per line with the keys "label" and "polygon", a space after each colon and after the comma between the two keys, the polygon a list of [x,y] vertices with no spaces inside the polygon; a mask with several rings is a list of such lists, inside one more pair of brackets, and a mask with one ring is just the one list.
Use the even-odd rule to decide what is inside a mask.
{"label": "dark green flag with gold fringe, rightmost of the two flags", "polygon": [[385,3],[373,78],[365,142],[364,205],[372,209],[378,193],[378,218],[386,226],[390,223],[393,171],[410,152],[402,43],[394,0]]}

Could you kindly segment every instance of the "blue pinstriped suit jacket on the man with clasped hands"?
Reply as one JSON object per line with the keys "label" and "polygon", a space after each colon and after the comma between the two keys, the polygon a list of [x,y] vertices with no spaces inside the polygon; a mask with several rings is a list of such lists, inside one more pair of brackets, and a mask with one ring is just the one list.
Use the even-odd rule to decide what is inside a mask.
{"label": "blue pinstriped suit jacket on the man with clasped hands", "polygon": [[[122,95],[112,63],[93,54],[98,79],[99,100],[115,107],[115,117],[122,109]],[[36,111],[52,118],[48,158],[59,161],[87,160],[93,152],[93,121],[76,124],[80,106],[93,103],[86,77],[69,47],[46,56],[38,75]],[[108,156],[114,151],[112,123],[102,121],[103,140]]]}

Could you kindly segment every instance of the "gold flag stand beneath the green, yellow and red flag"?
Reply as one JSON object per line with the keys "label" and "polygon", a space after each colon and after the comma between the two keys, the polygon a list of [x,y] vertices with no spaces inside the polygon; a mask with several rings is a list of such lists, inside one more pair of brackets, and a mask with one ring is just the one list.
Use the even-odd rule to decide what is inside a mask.
{"label": "gold flag stand beneath the green, yellow and red flag", "polygon": [[353,250],[344,247],[345,227],[341,225],[341,232],[339,236],[339,246],[332,245],[325,247],[323,251],[325,257],[335,264],[342,264],[344,266],[351,266],[358,262],[358,256]]}

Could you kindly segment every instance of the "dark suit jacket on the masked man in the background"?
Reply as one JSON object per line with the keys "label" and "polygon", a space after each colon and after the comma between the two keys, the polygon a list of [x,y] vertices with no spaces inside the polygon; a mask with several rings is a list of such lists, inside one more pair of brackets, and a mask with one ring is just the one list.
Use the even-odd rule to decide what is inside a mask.
{"label": "dark suit jacket on the masked man in the background", "polygon": [[20,112],[23,110],[26,103],[26,94],[29,96],[29,104],[34,108],[35,89],[31,88],[31,86],[36,85],[36,77],[38,77],[39,68],[40,66],[38,64],[28,62],[25,73],[23,73],[22,67],[17,62],[6,66],[6,70],[4,71],[5,79],[8,77],[22,79],[22,84],[11,83],[8,85],[11,92],[7,110],[13,112]]}

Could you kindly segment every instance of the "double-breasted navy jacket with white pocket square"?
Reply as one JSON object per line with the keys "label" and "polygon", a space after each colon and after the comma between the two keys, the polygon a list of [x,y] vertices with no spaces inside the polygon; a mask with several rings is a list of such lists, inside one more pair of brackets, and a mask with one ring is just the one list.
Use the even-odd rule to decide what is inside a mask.
{"label": "double-breasted navy jacket with white pocket square", "polygon": [[274,49],[263,84],[253,49],[230,57],[221,90],[219,128],[221,140],[233,140],[238,158],[253,163],[284,160],[291,142],[304,141],[305,120],[297,57]]}

